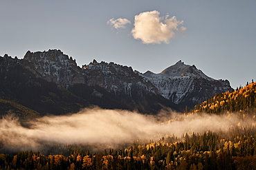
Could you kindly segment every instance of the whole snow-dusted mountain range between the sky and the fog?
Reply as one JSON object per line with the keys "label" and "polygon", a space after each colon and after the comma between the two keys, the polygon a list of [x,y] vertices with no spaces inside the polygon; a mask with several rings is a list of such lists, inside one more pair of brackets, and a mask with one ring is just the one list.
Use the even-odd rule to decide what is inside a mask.
{"label": "whole snow-dusted mountain range between the sky and the fog", "polygon": [[1,114],[21,116],[60,115],[91,106],[142,114],[183,111],[232,90],[229,81],[210,78],[182,61],[159,74],[143,74],[113,62],[93,60],[80,67],[60,50],[28,51],[24,59],[1,56],[0,81]]}

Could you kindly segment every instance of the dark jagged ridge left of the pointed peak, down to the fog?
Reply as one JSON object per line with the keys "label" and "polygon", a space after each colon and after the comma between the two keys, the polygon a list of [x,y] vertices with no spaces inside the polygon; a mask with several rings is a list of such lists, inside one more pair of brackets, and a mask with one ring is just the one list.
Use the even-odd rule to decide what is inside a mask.
{"label": "dark jagged ridge left of the pointed peak, down to the fog", "polygon": [[24,59],[6,54],[0,57],[0,66],[0,98],[15,100],[42,115],[76,112],[90,105],[143,114],[164,108],[181,111],[131,67],[93,61],[81,68],[60,50],[28,51]]}

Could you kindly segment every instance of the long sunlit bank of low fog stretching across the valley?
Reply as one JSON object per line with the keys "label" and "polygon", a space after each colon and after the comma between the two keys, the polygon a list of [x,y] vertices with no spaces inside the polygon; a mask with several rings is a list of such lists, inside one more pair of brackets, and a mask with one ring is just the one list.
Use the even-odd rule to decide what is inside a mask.
{"label": "long sunlit bank of low fog stretching across the valley", "polygon": [[[22,126],[8,115],[0,120],[1,149],[37,151],[44,144],[90,145],[115,148],[136,140],[159,140],[204,131],[227,132],[232,127],[255,127],[255,117],[238,114],[178,114],[170,111],[148,116],[131,111],[84,109],[69,116],[45,116]],[[91,148],[90,148],[91,149]]]}

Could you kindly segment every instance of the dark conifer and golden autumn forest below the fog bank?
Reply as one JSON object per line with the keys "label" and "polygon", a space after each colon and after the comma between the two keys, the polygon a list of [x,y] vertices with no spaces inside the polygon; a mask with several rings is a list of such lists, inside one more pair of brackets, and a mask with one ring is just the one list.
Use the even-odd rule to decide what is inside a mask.
{"label": "dark conifer and golden autumn forest below the fog bank", "polygon": [[[178,141],[178,142],[175,142]],[[60,149],[61,147],[58,146]],[[70,155],[23,151],[0,154],[1,169],[256,169],[255,128],[232,134],[205,132],[182,138],[91,153],[63,147]]]}

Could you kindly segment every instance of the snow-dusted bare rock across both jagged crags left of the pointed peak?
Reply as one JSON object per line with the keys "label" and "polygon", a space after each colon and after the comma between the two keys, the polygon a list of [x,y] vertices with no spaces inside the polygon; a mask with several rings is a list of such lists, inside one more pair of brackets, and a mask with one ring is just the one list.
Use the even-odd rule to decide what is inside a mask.
{"label": "snow-dusted bare rock across both jagged crags left of the pointed peak", "polygon": [[132,70],[131,67],[114,63],[98,63],[93,60],[89,65],[77,66],[72,57],[68,58],[60,50],[30,52],[24,56],[25,67],[39,77],[58,83],[63,87],[82,83],[99,86],[114,94],[132,97],[133,89],[158,94],[158,89]]}

